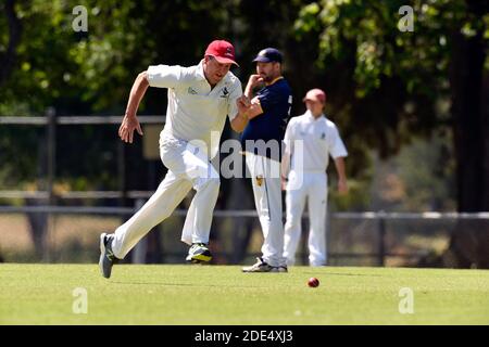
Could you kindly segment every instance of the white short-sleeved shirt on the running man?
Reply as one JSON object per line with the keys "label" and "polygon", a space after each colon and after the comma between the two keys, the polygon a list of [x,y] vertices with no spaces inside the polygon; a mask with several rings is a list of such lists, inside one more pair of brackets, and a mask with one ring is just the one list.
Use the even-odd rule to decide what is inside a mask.
{"label": "white short-sleeved shirt on the running man", "polygon": [[226,115],[233,120],[238,113],[236,99],[241,97],[242,89],[239,79],[228,72],[211,90],[202,63],[190,67],[153,65],[147,73],[151,87],[168,89],[166,124],[161,137],[191,141],[200,147],[203,141],[212,158],[218,151]]}

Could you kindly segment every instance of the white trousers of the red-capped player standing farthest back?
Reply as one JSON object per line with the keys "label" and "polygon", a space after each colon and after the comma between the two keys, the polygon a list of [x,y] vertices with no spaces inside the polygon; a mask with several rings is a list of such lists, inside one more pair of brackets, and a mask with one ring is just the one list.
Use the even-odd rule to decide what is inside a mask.
{"label": "white trousers of the red-capped player standing farthest back", "polygon": [[[301,236],[301,220],[305,201],[308,200],[309,230],[309,264],[313,267],[326,265],[326,208],[327,208],[327,176],[326,172],[303,172],[302,189],[289,189],[286,194],[287,220],[285,224],[284,257],[287,265],[296,262],[296,250]],[[288,185],[297,172],[289,175]]]}

